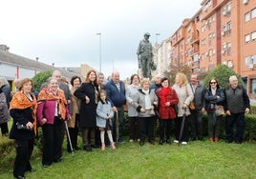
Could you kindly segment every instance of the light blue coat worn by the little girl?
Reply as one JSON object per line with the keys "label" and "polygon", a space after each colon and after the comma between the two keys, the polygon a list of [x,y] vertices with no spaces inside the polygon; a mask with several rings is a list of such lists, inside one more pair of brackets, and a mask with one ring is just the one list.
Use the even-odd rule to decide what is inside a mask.
{"label": "light blue coat worn by the little girl", "polygon": [[114,117],[110,101],[107,103],[99,101],[96,107],[96,126],[98,128],[106,128],[106,118],[108,115],[112,118]]}

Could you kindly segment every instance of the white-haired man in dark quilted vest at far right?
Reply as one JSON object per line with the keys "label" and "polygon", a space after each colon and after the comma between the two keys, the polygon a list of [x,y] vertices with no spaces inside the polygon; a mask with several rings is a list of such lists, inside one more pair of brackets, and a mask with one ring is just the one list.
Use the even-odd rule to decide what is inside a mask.
{"label": "white-haired man in dark quilted vest at far right", "polygon": [[[224,89],[225,103],[224,110],[226,113],[225,120],[225,137],[226,142],[231,143],[233,140],[237,144],[243,142],[245,128],[245,112],[249,112],[249,97],[246,90],[238,85],[236,76],[229,77],[229,86]],[[233,126],[236,123],[236,134],[233,137]]]}

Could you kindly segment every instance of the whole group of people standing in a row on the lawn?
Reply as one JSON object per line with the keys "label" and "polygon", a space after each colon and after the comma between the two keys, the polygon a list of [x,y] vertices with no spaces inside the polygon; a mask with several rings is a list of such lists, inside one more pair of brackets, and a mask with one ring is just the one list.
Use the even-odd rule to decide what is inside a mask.
{"label": "whole group of people standing in a row on the lawn", "polygon": [[[18,90],[8,98],[1,85],[1,111],[6,109],[6,117],[13,124],[10,138],[15,139],[16,157],[13,176],[24,178],[26,171],[33,171],[30,158],[36,129],[41,126],[44,137],[42,165],[48,168],[53,162],[61,162],[65,123],[70,140],[67,150],[80,149],[77,144],[78,130],[81,129],[82,145],[86,151],[100,147],[116,149],[115,143],[122,144],[124,106],[127,104],[129,117],[129,141],[138,141],[140,146],[146,142],[156,142],[156,127],[159,120],[159,144],[171,144],[172,124],[175,124],[174,143],[185,145],[191,140],[203,140],[203,113],[207,112],[208,135],[210,142],[218,142],[222,115],[217,112],[223,107],[226,142],[241,144],[245,127],[245,112],[249,112],[249,98],[244,88],[238,85],[238,78],[230,76],[229,86],[222,89],[216,78],[209,80],[206,89],[199,82],[196,73],[191,74],[190,83],[185,74],[178,72],[175,84],[159,74],[155,84],[148,78],[139,79],[133,74],[131,83],[125,85],[119,72],[114,71],[111,79],[104,83],[104,75],[89,70],[85,82],[79,76],[71,79],[69,87],[58,70],[53,71],[47,85],[42,85],[38,95],[33,91],[32,79],[24,78]],[[0,80],[1,82],[1,80]],[[2,103],[2,101],[5,103]],[[191,104],[195,108],[190,108]],[[1,112],[2,114],[2,112]],[[1,115],[2,117],[2,115]],[[0,120],[2,120],[0,118]],[[8,121],[7,120],[7,121]],[[7,122],[5,121],[5,122]],[[233,126],[236,123],[236,134]],[[8,132],[1,123],[3,132]],[[190,136],[189,136],[190,129]],[[108,138],[105,137],[105,131]],[[5,133],[4,133],[5,134]],[[106,142],[105,142],[106,141]]]}

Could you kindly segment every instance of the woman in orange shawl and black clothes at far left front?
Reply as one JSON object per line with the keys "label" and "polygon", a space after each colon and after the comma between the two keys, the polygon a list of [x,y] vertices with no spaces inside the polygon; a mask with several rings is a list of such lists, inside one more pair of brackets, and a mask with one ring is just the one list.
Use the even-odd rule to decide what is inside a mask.
{"label": "woman in orange shawl and black clothes at far left front", "polygon": [[30,159],[33,150],[33,140],[36,133],[37,103],[32,93],[32,79],[24,78],[20,81],[19,91],[12,96],[10,113],[13,123],[10,138],[15,139],[16,157],[13,176],[25,178],[25,171],[34,171]]}

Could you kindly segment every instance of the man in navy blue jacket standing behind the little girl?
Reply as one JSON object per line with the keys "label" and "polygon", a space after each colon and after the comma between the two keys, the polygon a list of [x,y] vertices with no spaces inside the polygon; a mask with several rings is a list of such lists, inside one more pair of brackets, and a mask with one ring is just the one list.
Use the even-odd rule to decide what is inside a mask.
{"label": "man in navy blue jacket standing behind the little girl", "polygon": [[[115,113],[114,115],[114,124],[113,124],[113,138],[118,143],[123,143],[123,140],[118,134],[117,125],[119,130],[122,130],[122,123],[124,119],[124,109],[123,105],[126,103],[125,99],[125,86],[122,81],[119,79],[119,72],[114,71],[112,73],[112,79],[106,84],[105,89],[107,91],[108,99],[111,101],[111,105]],[[118,116],[117,116],[118,115]],[[118,117],[118,121],[117,121]]]}

